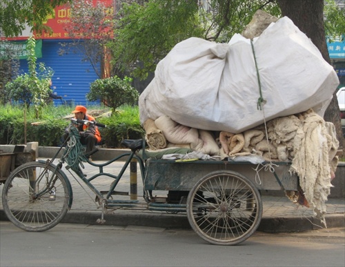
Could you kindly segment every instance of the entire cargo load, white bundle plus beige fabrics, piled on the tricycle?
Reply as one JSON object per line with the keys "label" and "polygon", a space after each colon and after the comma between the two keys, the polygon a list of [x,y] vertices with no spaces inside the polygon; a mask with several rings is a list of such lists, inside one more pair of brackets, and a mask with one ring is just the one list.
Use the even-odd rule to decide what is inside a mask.
{"label": "entire cargo load, white bundle plus beige fabrics, piled on the tricycle", "polygon": [[290,161],[300,190],[287,197],[326,225],[339,142],[323,116],[338,85],[333,67],[283,17],[253,39],[177,43],[140,95],[139,115],[150,150],[184,148],[268,169]]}

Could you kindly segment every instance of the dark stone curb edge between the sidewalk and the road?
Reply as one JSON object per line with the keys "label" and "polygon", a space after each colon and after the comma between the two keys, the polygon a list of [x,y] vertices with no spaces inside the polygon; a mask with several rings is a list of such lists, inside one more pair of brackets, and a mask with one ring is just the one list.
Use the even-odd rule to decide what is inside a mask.
{"label": "dark stone curb edge between the sidewalk and the road", "polygon": [[[189,228],[186,214],[166,214],[159,212],[121,212],[106,214],[103,225],[111,226],[148,226],[157,228]],[[68,211],[61,223],[97,225],[101,218],[99,211]],[[0,210],[0,221],[8,221],[3,210]],[[345,214],[326,215],[327,228],[344,228]],[[266,233],[291,233],[325,228],[322,222],[315,217],[263,217],[257,231]],[[298,230],[297,230],[298,229]]]}

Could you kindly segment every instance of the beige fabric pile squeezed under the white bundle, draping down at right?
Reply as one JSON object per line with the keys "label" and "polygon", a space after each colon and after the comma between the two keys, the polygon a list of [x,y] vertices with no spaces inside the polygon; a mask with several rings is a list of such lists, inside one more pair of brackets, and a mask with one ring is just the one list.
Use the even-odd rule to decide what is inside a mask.
{"label": "beige fabric pile squeezed under the white bundle, draping down at right", "polygon": [[339,141],[333,123],[313,110],[278,117],[237,134],[191,128],[166,115],[146,120],[144,129],[150,150],[189,148],[221,159],[259,155],[266,161],[292,161],[290,171],[299,176],[302,191],[286,195],[296,204],[311,206],[320,219],[326,214]]}

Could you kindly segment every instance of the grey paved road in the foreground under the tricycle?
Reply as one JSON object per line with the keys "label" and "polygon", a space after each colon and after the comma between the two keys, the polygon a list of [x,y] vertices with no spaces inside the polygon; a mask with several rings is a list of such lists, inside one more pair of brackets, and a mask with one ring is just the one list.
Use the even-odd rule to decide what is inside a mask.
{"label": "grey paved road in the foreground under the tricycle", "polygon": [[215,246],[192,230],[59,224],[28,233],[0,222],[0,266],[344,266],[344,228],[257,232]]}

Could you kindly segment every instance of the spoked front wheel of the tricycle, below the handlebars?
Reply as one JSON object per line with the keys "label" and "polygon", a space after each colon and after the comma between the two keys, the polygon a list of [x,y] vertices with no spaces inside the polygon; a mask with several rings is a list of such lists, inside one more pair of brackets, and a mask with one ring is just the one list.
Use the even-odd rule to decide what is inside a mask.
{"label": "spoked front wheel of the tricycle, below the handlebars", "polygon": [[68,210],[70,190],[55,166],[33,161],[16,168],[3,187],[3,210],[12,223],[27,231],[48,230]]}

